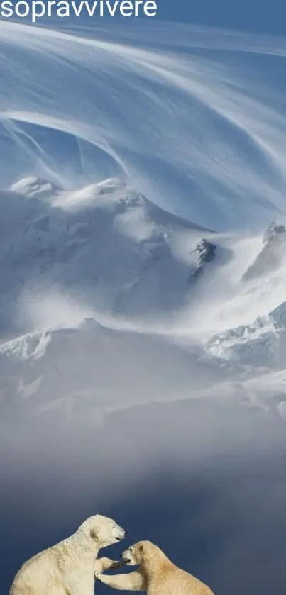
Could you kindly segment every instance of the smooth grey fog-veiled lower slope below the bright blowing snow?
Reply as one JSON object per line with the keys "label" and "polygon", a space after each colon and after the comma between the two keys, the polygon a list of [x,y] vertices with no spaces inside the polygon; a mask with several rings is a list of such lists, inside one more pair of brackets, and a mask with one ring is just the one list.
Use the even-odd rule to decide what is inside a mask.
{"label": "smooth grey fog-veiled lower slope below the bright blowing snow", "polygon": [[196,397],[241,372],[202,351],[160,336],[106,328],[93,318],[77,328],[38,330],[0,346],[2,421],[39,416],[97,425],[130,406]]}

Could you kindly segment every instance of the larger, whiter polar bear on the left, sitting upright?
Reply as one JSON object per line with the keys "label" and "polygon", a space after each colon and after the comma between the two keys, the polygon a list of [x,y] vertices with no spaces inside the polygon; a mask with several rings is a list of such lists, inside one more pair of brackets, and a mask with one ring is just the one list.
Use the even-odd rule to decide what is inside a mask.
{"label": "larger, whiter polar bear on the left, sitting upright", "polygon": [[9,595],[94,595],[94,572],[120,562],[97,558],[101,547],[120,541],[126,530],[106,516],[87,518],[69,538],[28,560],[16,574]]}

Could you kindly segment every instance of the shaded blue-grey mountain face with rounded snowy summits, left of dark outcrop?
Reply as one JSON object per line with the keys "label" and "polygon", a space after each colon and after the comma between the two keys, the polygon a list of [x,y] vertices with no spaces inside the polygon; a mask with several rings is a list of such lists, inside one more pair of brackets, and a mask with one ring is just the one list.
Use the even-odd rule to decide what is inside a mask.
{"label": "shaded blue-grey mountain face with rounded snowy summits, left of dark outcrop", "polygon": [[194,272],[207,268],[207,244],[194,257],[197,226],[116,179],[77,191],[23,179],[1,191],[0,210],[1,299],[11,316],[24,293],[49,288],[89,310],[158,319],[184,304]]}

